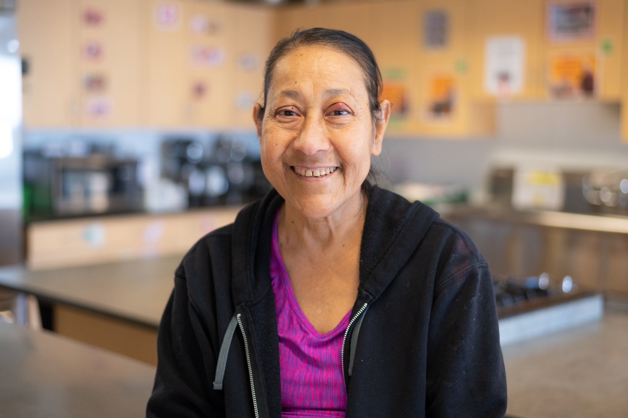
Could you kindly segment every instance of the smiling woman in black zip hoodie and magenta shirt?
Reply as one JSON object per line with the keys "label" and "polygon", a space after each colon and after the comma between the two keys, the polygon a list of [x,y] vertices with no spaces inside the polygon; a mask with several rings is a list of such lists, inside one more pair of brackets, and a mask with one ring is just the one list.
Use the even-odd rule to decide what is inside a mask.
{"label": "smiling woman in black zip hoodie and magenta shirt", "polygon": [[274,190],[176,270],[148,417],[504,416],[486,261],[366,181],[380,95],[354,35],[313,28],[273,48],[253,118]]}

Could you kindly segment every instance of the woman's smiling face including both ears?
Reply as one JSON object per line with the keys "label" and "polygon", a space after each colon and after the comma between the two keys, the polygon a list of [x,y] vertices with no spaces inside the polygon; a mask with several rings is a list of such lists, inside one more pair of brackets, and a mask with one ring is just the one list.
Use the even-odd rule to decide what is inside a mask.
{"label": "woman's smiling face including both ears", "polygon": [[[281,58],[266,112],[254,118],[264,174],[310,219],[330,216],[360,192],[386,128],[371,118],[364,72],[342,52],[301,47]],[[359,195],[358,195],[359,196]]]}

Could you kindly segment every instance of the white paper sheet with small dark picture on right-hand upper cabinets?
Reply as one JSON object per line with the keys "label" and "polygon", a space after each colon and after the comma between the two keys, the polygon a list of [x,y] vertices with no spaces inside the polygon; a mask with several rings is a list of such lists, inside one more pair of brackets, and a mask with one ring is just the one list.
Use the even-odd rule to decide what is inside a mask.
{"label": "white paper sheet with small dark picture on right-hand upper cabinets", "polygon": [[520,36],[492,36],[484,43],[484,90],[509,97],[523,90],[525,44]]}

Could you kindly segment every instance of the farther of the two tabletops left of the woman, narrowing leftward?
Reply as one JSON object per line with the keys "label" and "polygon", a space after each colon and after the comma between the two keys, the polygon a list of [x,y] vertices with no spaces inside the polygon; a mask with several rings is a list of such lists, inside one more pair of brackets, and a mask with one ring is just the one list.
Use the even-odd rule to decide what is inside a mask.
{"label": "farther of the two tabletops left of the woman, narrowing leftward", "polygon": [[38,271],[0,267],[0,289],[156,328],[181,258],[183,255]]}

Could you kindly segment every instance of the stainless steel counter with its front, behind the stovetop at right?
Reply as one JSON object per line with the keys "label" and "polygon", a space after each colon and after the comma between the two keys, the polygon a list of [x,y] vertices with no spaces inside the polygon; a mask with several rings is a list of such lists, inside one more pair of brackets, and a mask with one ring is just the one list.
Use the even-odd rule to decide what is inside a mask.
{"label": "stainless steel counter with its front, behind the stovetop at right", "polygon": [[443,218],[460,226],[494,275],[565,276],[580,289],[628,297],[628,217],[497,207],[455,207]]}

